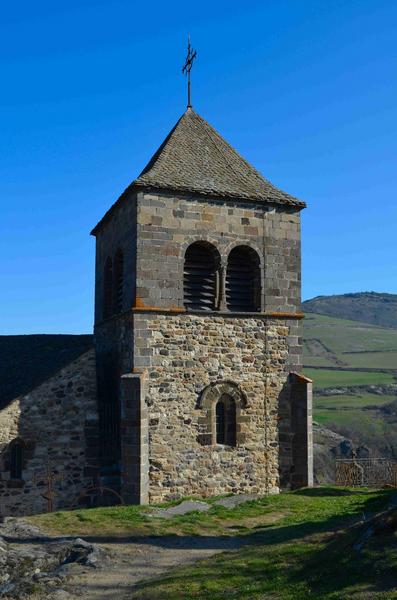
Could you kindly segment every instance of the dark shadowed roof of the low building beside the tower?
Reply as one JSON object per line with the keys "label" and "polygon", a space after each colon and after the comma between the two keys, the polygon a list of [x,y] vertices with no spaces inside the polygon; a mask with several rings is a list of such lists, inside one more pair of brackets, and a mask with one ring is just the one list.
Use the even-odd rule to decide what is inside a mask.
{"label": "dark shadowed roof of the low building beside the tower", "polygon": [[92,335],[0,335],[0,408],[92,347]]}

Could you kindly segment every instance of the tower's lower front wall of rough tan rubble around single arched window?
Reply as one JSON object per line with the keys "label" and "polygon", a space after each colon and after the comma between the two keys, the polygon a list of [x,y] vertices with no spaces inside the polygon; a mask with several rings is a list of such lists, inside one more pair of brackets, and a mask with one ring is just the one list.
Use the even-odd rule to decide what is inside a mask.
{"label": "tower's lower front wall of rough tan rubble around single arched window", "polygon": [[[137,357],[146,363],[149,498],[276,492],[279,402],[288,395],[289,323],[266,318],[136,315]],[[234,382],[246,396],[236,447],[202,445],[199,407],[210,383]],[[290,427],[290,423],[288,423]]]}

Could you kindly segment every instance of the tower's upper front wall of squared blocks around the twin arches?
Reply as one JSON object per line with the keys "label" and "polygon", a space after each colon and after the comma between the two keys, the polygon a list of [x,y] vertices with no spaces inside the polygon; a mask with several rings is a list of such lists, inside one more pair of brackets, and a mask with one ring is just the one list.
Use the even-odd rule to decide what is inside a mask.
{"label": "tower's upper front wall of squared blocks around the twin arches", "polygon": [[265,311],[300,310],[300,214],[267,204],[171,194],[137,194],[137,304],[183,308],[183,258],[211,242],[224,266],[230,250],[251,246],[261,260]]}

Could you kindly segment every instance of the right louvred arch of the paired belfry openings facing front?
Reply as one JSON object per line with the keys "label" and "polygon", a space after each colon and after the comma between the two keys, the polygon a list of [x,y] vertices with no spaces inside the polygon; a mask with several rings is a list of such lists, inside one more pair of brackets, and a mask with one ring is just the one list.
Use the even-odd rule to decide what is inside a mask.
{"label": "right louvred arch of the paired belfry openings facing front", "polygon": [[226,306],[234,312],[260,310],[261,274],[259,256],[249,246],[230,252],[226,270]]}

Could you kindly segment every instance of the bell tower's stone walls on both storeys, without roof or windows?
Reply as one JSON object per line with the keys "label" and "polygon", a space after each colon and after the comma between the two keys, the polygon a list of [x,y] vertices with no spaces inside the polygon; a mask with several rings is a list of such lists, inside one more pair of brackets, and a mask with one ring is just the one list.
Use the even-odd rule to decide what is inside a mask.
{"label": "bell tower's stone walls on both storeys, without roof or windows", "polygon": [[[224,273],[235,246],[248,245],[258,253],[261,313],[228,313],[224,301],[219,312],[205,316],[184,312],[184,256],[199,240],[216,247]],[[103,321],[103,266],[120,246],[129,257],[124,312]],[[122,376],[145,373],[145,385],[137,385],[145,389],[149,403],[151,466],[145,490],[147,449],[131,445],[131,436],[145,438],[136,432],[137,392],[131,392],[136,382],[126,380],[121,472],[130,467],[142,471],[139,494],[131,486],[126,497],[138,494],[142,499],[149,492],[155,501],[206,493],[203,486],[217,493],[291,485],[294,430],[288,374],[302,368],[299,314],[294,318],[301,307],[300,272],[300,213],[291,207],[137,192],[103,224],[97,232],[97,356],[116,352]],[[251,397],[239,414],[237,449],[203,446],[202,437],[199,441],[208,414],[198,408],[198,395],[224,378],[244,391],[248,387]],[[207,488],[203,481],[208,478]]]}

